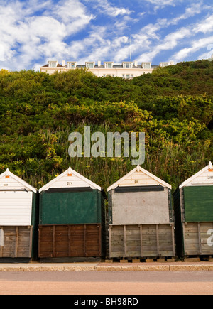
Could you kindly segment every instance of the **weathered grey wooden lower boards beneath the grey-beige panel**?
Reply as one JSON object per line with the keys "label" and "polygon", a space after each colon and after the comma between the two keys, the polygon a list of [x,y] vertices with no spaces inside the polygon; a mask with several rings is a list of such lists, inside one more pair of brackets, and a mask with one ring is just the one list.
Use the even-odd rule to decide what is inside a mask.
{"label": "weathered grey wooden lower boards beneath the grey-beige panel", "polygon": [[109,225],[109,257],[175,256],[174,224]]}

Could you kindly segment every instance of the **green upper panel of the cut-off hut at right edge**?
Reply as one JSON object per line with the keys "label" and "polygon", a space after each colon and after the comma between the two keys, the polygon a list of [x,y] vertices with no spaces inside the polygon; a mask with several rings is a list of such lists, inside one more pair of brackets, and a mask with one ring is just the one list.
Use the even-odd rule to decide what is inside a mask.
{"label": "green upper panel of the cut-off hut at right edge", "polygon": [[213,221],[213,186],[196,186],[184,188],[185,221]]}

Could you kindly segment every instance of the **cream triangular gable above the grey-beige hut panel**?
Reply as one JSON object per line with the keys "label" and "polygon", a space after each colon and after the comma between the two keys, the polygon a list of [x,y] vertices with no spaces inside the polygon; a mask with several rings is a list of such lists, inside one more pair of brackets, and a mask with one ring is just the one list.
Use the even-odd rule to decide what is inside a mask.
{"label": "cream triangular gable above the grey-beige hut panel", "polygon": [[165,181],[156,177],[155,175],[149,173],[141,166],[136,166],[131,172],[126,174],[120,180],[116,181],[113,185],[111,185],[107,191],[115,189],[117,187],[125,187],[125,186],[143,186],[143,185],[163,185],[163,187],[167,187],[171,189],[171,185],[165,183]]}

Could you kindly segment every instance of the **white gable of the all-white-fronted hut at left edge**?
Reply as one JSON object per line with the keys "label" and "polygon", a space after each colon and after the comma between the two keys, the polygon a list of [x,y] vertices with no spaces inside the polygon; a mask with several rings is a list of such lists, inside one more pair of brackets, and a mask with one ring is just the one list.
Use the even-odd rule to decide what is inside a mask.
{"label": "white gable of the all-white-fronted hut at left edge", "polygon": [[37,189],[35,189],[32,185],[29,185],[23,179],[14,175],[9,171],[9,168],[6,169],[4,173],[0,175],[0,189],[3,190],[21,190],[26,189],[27,191],[33,191],[37,193]]}

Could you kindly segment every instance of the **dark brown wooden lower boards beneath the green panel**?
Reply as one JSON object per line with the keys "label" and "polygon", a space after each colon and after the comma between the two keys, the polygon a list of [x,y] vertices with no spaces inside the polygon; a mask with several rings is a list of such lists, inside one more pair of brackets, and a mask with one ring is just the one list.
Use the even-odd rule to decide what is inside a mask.
{"label": "dark brown wooden lower boards beneath the green panel", "polygon": [[39,226],[40,258],[102,256],[101,224]]}

